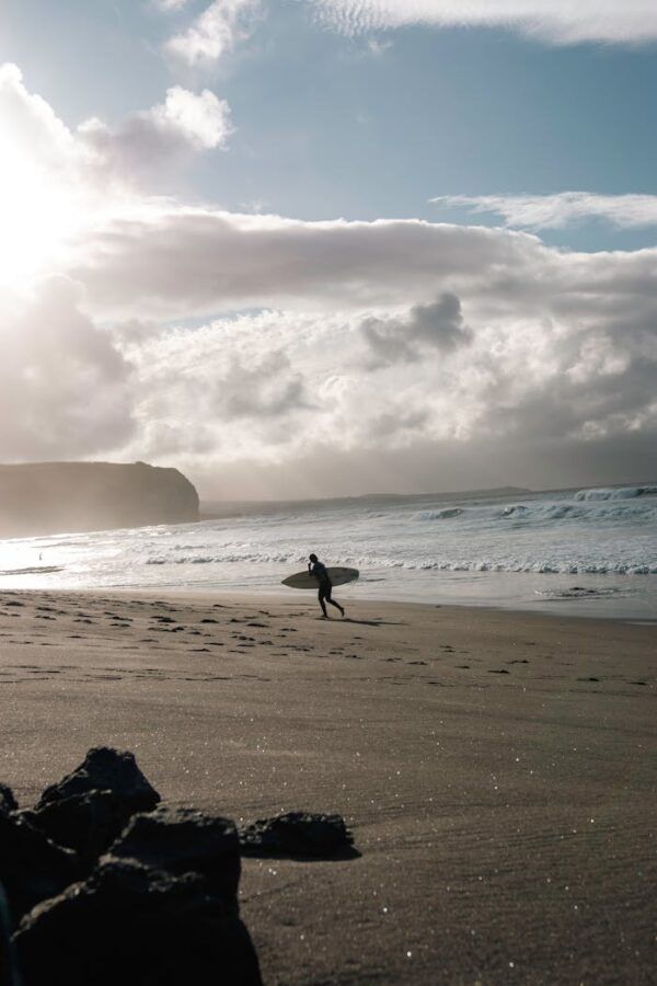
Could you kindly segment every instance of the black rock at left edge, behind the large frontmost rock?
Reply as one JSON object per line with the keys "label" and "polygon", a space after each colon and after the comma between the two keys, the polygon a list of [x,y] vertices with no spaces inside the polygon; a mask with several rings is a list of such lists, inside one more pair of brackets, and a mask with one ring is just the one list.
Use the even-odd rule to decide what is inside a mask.
{"label": "black rock at left edge, behind the large frontmost rock", "polygon": [[19,815],[0,814],[0,883],[14,921],[80,874],[74,852],[56,846]]}

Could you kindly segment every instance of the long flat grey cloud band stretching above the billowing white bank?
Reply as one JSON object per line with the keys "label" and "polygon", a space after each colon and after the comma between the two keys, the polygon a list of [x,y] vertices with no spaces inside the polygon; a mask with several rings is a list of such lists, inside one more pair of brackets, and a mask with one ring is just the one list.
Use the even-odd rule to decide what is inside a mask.
{"label": "long flat grey cloud band stretching above the billowing white bank", "polygon": [[[250,307],[353,307],[435,300],[522,278],[557,255],[525,233],[425,222],[280,216],[164,206],[100,228],[74,264],[94,303],[142,317]],[[527,272],[529,276],[529,271]]]}

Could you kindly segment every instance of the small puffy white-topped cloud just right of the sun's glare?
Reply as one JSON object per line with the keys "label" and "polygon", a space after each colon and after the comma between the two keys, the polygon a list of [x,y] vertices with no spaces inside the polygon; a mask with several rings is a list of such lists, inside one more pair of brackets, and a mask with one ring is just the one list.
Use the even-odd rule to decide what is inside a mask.
{"label": "small puffy white-topped cloud just right of the sun's glare", "polygon": [[181,85],[166,90],[164,103],[134,113],[115,127],[93,118],[78,128],[99,168],[124,181],[223,147],[231,133],[227,102],[208,89],[194,93]]}

